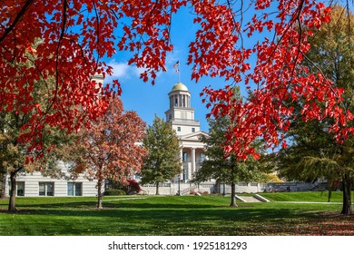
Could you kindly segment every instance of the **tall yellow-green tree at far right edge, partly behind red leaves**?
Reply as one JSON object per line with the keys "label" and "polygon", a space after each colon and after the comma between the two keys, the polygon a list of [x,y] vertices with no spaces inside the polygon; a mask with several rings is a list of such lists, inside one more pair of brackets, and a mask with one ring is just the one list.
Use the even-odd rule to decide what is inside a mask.
{"label": "tall yellow-green tree at far right edge, partly behind red leaves", "polygon": [[[341,95],[343,100],[339,110],[345,113],[354,112],[353,20],[354,16],[348,9],[339,5],[333,6],[331,22],[322,26],[320,30],[311,31],[315,36],[310,41],[311,49],[306,55],[310,72],[320,70],[324,76],[333,81],[336,88],[343,89]],[[280,151],[281,174],[297,180],[313,181],[325,178],[329,182],[329,190],[332,189],[334,182],[341,181],[343,190],[341,213],[351,214],[354,138],[348,136],[344,142],[337,141],[334,132],[338,130],[331,130],[329,126],[332,126],[334,121],[340,122],[340,118],[301,122],[301,108],[306,103],[306,98],[300,103],[292,103],[296,117],[290,119],[290,132],[287,135],[292,145]],[[327,105],[324,101],[317,106],[324,109]]]}

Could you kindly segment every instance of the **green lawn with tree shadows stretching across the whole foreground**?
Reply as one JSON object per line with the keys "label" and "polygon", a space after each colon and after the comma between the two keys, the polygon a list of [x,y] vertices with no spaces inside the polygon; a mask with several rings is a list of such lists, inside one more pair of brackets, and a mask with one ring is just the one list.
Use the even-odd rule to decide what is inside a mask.
{"label": "green lawn with tree shadows stretching across the whole foreground", "polygon": [[0,200],[0,235],[354,235],[354,216],[341,216],[340,193],[329,204],[321,192],[264,193],[269,203],[238,203],[221,196],[17,198],[19,212]]}

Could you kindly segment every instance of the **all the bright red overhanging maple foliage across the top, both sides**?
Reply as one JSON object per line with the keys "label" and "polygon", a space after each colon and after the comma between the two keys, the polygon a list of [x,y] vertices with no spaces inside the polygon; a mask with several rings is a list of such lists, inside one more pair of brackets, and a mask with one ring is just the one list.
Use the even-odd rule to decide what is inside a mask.
{"label": "all the bright red overhanging maple foliage across the top, both sides", "polygon": [[[354,132],[346,127],[353,115],[338,106],[342,91],[300,64],[312,35],[302,27],[320,28],[329,22],[330,8],[315,0],[5,0],[0,8],[0,110],[36,112],[20,142],[38,142],[34,136],[44,123],[72,132],[103,114],[112,85],[120,93],[119,83],[103,87],[92,77],[112,73],[102,59],[117,50],[133,52],[129,64],[145,68],[143,81],[153,83],[156,72],[166,70],[172,15],[182,6],[191,8],[194,23],[200,26],[190,44],[192,78],[221,76],[231,84],[257,87],[247,102],[234,100],[228,87],[203,91],[211,114],[231,115],[227,152],[240,159],[248,154],[257,157],[250,143],[259,136],[269,146],[278,145],[279,131],[289,128],[293,111],[285,100],[305,99],[304,121],[335,119],[330,130],[339,139]],[[250,12],[254,15],[247,19]],[[258,39],[264,31],[270,36]],[[246,46],[246,37],[257,42]],[[28,51],[36,54],[31,65],[25,64]],[[253,57],[257,60],[251,65]],[[55,80],[54,93],[47,94],[51,113],[24,96],[34,89],[34,81],[48,76]],[[19,107],[16,102],[21,100],[29,106]],[[322,111],[318,103],[323,102]]]}

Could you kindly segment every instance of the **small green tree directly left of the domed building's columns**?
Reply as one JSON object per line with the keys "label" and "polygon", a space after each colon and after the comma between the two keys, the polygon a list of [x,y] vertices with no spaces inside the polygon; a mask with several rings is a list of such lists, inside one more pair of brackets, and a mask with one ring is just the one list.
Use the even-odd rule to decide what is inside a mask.
{"label": "small green tree directly left of the domed building's columns", "polygon": [[182,171],[179,140],[171,125],[155,116],[146,130],[143,146],[148,155],[143,163],[142,183],[154,183],[156,195],[159,195],[159,184]]}

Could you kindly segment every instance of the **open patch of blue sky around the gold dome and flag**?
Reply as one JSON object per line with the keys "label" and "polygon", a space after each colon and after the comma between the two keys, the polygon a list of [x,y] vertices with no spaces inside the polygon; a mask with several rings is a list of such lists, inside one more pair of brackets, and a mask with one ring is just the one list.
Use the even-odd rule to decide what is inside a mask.
{"label": "open patch of blue sky around the gold dome and flag", "polygon": [[181,82],[187,85],[191,94],[192,107],[195,109],[195,119],[201,122],[201,130],[209,131],[209,126],[205,115],[209,112],[205,104],[202,104],[200,93],[202,88],[211,85],[213,88],[224,87],[222,79],[202,78],[198,83],[191,80],[192,67],[187,65],[188,45],[194,38],[194,31],[197,27],[192,27],[192,14],[188,8],[183,7],[180,12],[172,16],[172,44],[173,52],[168,54],[166,61],[166,73],[159,73],[156,83],[143,83],[139,79],[140,70],[135,66],[127,65],[127,54],[118,53],[106,62],[113,66],[113,77],[118,78],[122,84],[123,106],[125,110],[136,111],[143,121],[152,124],[155,115],[165,118],[164,112],[168,110],[168,93],[172,86],[178,83],[178,73],[173,69],[173,64],[180,61]]}

